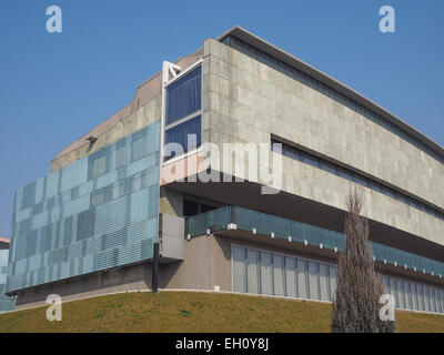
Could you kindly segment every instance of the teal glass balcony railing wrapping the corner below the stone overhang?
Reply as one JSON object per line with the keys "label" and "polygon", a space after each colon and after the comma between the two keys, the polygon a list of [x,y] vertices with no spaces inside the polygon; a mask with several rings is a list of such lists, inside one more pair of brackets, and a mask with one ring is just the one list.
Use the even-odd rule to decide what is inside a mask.
{"label": "teal glass balcony railing wrapping the corner below the stone overhang", "polygon": [[[240,206],[223,206],[191,216],[188,220],[189,237],[228,230],[268,235],[335,252],[342,251],[345,243],[343,233]],[[440,278],[444,276],[444,263],[380,243],[370,242],[370,244],[374,258],[383,264]]]}

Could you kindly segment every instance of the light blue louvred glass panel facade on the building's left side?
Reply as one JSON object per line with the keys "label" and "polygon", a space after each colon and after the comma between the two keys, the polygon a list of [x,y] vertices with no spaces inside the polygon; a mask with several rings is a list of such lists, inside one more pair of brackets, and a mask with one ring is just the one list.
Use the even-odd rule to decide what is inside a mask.
{"label": "light blue louvred glass panel facade on the building's left side", "polygon": [[160,122],[19,189],[9,292],[152,257]]}

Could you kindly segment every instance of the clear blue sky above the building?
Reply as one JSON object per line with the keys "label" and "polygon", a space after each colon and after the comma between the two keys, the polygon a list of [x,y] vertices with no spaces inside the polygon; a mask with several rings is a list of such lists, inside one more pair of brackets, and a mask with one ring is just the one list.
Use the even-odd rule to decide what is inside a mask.
{"label": "clear blue sky above the building", "polygon": [[[49,34],[46,9],[62,9]],[[395,9],[396,33],[379,31]],[[1,0],[0,235],[13,192],[127,105],[135,88],[240,24],[357,90],[444,145],[444,1]]]}

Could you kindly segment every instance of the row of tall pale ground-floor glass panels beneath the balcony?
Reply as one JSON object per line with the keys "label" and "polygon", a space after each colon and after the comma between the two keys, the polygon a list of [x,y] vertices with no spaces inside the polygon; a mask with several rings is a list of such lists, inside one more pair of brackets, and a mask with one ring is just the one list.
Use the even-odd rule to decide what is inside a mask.
{"label": "row of tall pale ground-floor glass panels beneath the balcony", "polygon": [[[333,301],[336,265],[232,246],[233,292]],[[383,275],[385,291],[397,308],[444,313],[444,288]]]}

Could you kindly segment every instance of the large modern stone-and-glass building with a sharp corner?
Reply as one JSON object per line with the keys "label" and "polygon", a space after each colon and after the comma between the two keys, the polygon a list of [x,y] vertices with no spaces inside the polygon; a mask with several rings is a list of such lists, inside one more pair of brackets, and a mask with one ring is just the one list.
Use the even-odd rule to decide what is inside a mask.
{"label": "large modern stone-and-glass building with a sharp corner", "polygon": [[354,186],[397,307],[443,313],[443,148],[234,27],[16,192],[7,293],[18,307],[155,285],[330,302]]}

